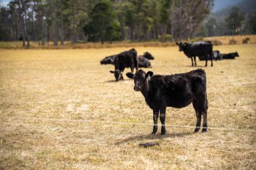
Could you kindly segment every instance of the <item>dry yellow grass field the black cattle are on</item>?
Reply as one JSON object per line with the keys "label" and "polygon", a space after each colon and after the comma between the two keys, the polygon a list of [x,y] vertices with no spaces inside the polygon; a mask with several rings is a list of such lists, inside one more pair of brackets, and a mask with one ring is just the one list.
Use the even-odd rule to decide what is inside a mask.
{"label": "dry yellow grass field the black cattle are on", "polygon": [[[166,110],[165,136],[159,128],[151,134],[152,110],[133,81],[116,83],[113,65],[100,65],[104,56],[129,48],[2,49],[0,169],[256,169],[255,48],[216,46],[240,57],[214,67],[203,61],[191,67],[177,46],[136,48],[155,56],[146,71],[201,68],[207,74],[208,132],[174,127],[195,126],[189,105]],[[142,148],[141,142],[160,145]]]}

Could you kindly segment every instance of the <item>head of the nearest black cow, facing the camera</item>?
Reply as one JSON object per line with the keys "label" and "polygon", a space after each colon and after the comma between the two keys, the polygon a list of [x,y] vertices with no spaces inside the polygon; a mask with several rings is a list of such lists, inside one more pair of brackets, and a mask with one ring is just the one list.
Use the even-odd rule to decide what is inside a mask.
{"label": "head of the nearest black cow, facing the camera", "polygon": [[130,79],[134,80],[133,89],[135,91],[141,91],[141,89],[143,89],[143,87],[145,87],[146,83],[148,83],[148,81],[150,81],[150,77],[152,77],[152,75],[154,75],[154,73],[152,71],[148,71],[148,73],[146,73],[145,71],[140,69],[140,70],[136,71],[135,75],[133,75],[133,73],[127,73],[126,75]]}

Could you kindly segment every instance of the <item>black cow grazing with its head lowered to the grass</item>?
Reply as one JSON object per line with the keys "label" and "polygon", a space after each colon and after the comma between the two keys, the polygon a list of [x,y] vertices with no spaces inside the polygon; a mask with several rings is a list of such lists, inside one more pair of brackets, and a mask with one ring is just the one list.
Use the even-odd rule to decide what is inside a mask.
{"label": "black cow grazing with its head lowered to the grass", "polygon": [[116,81],[123,80],[123,71],[125,67],[131,68],[131,73],[133,73],[134,68],[138,69],[138,58],[137,51],[132,48],[131,50],[121,52],[114,59],[115,71],[110,71],[114,73]]}

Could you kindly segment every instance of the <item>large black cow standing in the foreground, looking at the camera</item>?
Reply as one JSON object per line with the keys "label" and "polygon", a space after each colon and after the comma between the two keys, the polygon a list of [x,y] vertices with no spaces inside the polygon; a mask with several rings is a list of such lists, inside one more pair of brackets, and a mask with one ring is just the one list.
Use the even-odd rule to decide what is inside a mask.
{"label": "large black cow standing in the foreground, looking at the camera", "polygon": [[195,132],[201,126],[201,116],[203,116],[202,132],[207,131],[207,94],[206,75],[202,69],[190,71],[188,73],[175,75],[154,75],[152,71],[148,73],[143,70],[127,73],[127,77],[134,79],[134,90],[141,91],[146,103],[153,110],[154,127],[152,134],[158,130],[158,114],[162,123],[161,134],[165,134],[165,114],[166,107],[184,108],[193,103],[197,124]]}

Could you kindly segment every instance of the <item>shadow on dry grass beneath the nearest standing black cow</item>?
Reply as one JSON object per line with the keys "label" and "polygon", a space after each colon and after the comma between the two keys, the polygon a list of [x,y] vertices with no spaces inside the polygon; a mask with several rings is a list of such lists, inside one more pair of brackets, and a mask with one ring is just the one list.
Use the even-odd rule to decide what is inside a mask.
{"label": "shadow on dry grass beneath the nearest standing black cow", "polygon": [[193,132],[178,132],[173,134],[166,134],[166,135],[160,135],[160,134],[140,134],[137,136],[131,136],[129,138],[125,138],[122,141],[116,142],[116,144],[123,144],[127,142],[131,142],[134,140],[150,140],[150,139],[162,139],[162,138],[174,138],[174,137],[183,137],[194,134]]}

